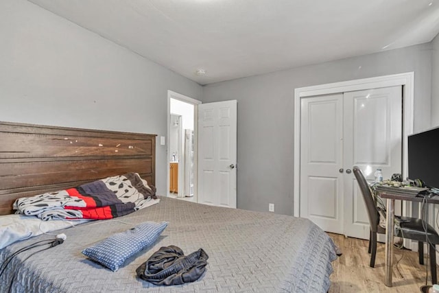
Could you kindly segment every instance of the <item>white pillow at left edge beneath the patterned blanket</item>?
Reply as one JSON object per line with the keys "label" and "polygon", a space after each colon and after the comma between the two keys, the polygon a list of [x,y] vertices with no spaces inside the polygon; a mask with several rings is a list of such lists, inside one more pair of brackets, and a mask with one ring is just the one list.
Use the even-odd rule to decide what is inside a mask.
{"label": "white pillow at left edge beneath the patterned blanket", "polygon": [[34,215],[1,215],[0,249],[19,240],[24,240],[63,228],[69,228],[84,222],[88,222],[88,220],[43,221]]}

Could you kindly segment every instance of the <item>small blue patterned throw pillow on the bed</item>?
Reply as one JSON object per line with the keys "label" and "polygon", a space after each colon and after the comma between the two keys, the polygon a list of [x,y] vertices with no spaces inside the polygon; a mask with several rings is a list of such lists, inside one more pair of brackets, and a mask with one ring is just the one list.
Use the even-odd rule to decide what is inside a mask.
{"label": "small blue patterned throw pillow on the bed", "polygon": [[154,244],[166,227],[167,222],[143,222],[85,248],[82,254],[115,272],[126,259]]}

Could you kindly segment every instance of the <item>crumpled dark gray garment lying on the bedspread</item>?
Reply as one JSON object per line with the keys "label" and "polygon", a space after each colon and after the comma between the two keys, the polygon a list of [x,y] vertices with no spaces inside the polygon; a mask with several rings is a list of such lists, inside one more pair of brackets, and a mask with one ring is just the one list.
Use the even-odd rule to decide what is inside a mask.
{"label": "crumpled dark gray garment lying on the bedspread", "polygon": [[160,248],[137,268],[137,276],[154,285],[181,285],[198,280],[209,255],[202,248],[185,256],[178,246]]}

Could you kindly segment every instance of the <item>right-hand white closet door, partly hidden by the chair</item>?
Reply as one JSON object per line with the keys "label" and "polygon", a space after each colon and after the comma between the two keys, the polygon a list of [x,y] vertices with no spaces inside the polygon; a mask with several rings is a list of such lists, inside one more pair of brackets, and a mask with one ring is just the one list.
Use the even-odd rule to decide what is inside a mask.
{"label": "right-hand white closet door, partly hidden by the chair", "polygon": [[[402,102],[401,86],[344,93],[345,169],[360,167],[370,182],[377,168],[383,178],[401,174]],[[344,173],[344,188],[344,234],[369,239],[366,205],[352,173]]]}

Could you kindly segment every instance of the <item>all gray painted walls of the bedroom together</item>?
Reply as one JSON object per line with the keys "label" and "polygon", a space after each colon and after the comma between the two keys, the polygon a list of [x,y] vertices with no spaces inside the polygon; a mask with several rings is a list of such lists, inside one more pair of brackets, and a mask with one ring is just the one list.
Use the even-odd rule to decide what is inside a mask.
{"label": "all gray painted walls of the bedroom together", "polygon": [[[415,71],[415,130],[429,128],[430,118],[439,124],[439,85],[431,84],[437,38],[204,87],[25,0],[0,1],[0,40],[0,121],[165,136],[167,90],[204,102],[237,99],[242,209],[267,211],[274,202],[276,213],[292,214],[296,87]],[[166,192],[166,159],[157,145],[159,194]]]}

